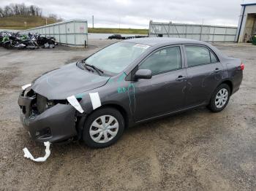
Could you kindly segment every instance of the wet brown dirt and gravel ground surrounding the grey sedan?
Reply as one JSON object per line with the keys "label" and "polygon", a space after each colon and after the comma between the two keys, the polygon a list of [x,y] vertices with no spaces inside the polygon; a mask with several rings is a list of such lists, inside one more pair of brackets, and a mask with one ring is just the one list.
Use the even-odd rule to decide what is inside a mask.
{"label": "wet brown dirt and gravel ground surrounding the grey sedan", "polygon": [[20,86],[45,71],[84,58],[87,50],[5,50],[0,47],[0,190],[255,190],[256,46],[216,44],[242,58],[244,80],[227,108],[194,109],[129,128],[112,147],[82,142],[51,145],[45,163],[23,157],[45,155],[19,122]]}

